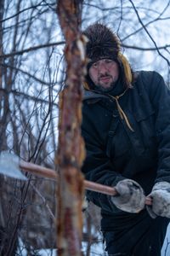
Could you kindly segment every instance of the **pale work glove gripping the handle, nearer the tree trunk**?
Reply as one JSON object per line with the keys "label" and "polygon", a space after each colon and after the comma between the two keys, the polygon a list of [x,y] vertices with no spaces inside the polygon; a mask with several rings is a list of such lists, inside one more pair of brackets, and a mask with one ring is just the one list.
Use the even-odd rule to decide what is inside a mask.
{"label": "pale work glove gripping the handle, nearer the tree trunk", "polygon": [[111,196],[114,205],[124,212],[140,212],[144,209],[144,190],[132,179],[124,179],[116,184],[118,195]]}

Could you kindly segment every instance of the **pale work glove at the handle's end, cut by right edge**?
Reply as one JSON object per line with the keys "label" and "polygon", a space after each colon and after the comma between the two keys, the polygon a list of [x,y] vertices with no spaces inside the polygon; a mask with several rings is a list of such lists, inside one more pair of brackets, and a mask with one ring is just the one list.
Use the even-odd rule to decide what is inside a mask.
{"label": "pale work glove at the handle's end, cut by right edge", "polygon": [[151,206],[146,207],[151,218],[170,218],[170,183],[156,183],[148,197],[152,200]]}

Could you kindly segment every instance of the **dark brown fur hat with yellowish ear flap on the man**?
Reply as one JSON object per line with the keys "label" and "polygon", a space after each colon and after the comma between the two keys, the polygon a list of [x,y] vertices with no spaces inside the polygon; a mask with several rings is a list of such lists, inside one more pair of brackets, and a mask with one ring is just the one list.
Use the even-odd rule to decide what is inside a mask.
{"label": "dark brown fur hat with yellowish ear flap on the man", "polygon": [[[131,67],[125,56],[121,53],[121,43],[116,34],[110,28],[100,23],[88,26],[83,34],[88,38],[86,45],[88,69],[94,62],[102,59],[107,58],[116,61],[120,67],[123,83],[126,87],[131,87],[133,79]],[[88,75],[86,80],[87,83],[84,84],[84,87],[89,90],[92,87],[92,85],[90,86],[92,81]]]}

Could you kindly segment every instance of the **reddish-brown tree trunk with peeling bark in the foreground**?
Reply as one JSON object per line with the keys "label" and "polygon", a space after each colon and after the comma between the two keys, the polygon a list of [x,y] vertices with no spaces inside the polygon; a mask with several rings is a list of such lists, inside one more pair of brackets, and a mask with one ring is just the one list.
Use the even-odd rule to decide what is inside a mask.
{"label": "reddish-brown tree trunk with peeling bark in the foreground", "polygon": [[82,255],[82,199],[84,143],[81,137],[82,81],[86,70],[85,38],[79,26],[82,1],[58,1],[65,36],[65,89],[59,99],[59,166],[57,247],[59,256]]}

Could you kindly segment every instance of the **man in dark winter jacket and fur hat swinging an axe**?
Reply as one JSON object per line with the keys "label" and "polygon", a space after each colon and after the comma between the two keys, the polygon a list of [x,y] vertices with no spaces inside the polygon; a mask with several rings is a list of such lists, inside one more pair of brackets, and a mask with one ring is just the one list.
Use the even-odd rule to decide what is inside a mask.
{"label": "man in dark winter jacket and fur hat swinging an axe", "polygon": [[88,200],[101,208],[109,255],[160,256],[170,218],[170,92],[158,73],[132,71],[108,27],[97,23],[83,34],[82,172],[118,192],[88,191]]}

